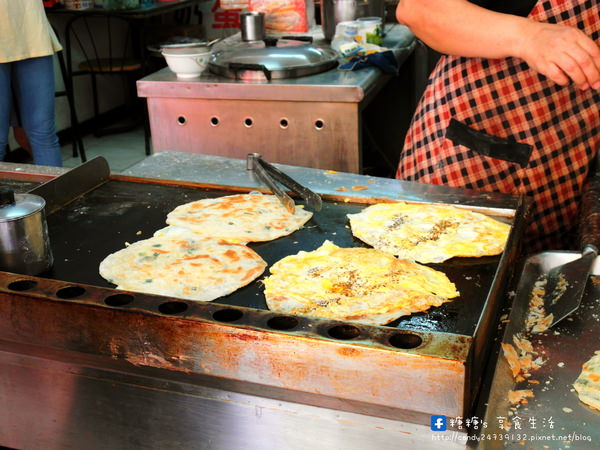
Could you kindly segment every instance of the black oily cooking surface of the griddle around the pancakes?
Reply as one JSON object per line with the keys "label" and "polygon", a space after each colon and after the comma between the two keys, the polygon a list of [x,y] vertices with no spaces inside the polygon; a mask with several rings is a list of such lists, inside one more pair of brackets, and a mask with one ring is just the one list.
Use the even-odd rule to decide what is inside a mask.
{"label": "black oily cooking surface of the griddle around the pancakes", "polygon": [[[114,287],[98,273],[100,262],[110,253],[151,237],[166,226],[166,216],[176,206],[202,198],[231,195],[234,192],[150,183],[111,180],[51,214],[48,220],[54,253],[53,269],[45,274],[56,280]],[[355,239],[346,214],[361,211],[365,205],[324,202],[305,227],[290,236],[270,242],[252,243],[268,264],[300,250],[311,251],[329,239],[340,247],[367,247]],[[393,322],[397,328],[440,331],[472,336],[498,268],[499,257],[454,258],[431,265],[445,272],[461,296],[429,313],[414,314]],[[259,278],[215,303],[268,309]]]}

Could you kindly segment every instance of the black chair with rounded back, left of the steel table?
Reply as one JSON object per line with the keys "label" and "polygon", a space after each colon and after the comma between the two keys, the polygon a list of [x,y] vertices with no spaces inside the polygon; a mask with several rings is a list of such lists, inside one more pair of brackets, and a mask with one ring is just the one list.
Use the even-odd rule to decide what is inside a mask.
{"label": "black chair with rounded back, left of the steel table", "polygon": [[[145,105],[138,99],[135,82],[144,75],[143,44],[135,23],[112,13],[80,13],[65,27],[67,78],[73,90],[76,77],[89,75],[94,106],[94,134],[103,136],[124,132],[141,122],[144,126],[144,145],[150,154],[150,127]],[[107,128],[100,123],[98,77],[120,77],[127,98],[126,118],[138,118],[128,126]],[[110,88],[110,87],[109,87]]]}

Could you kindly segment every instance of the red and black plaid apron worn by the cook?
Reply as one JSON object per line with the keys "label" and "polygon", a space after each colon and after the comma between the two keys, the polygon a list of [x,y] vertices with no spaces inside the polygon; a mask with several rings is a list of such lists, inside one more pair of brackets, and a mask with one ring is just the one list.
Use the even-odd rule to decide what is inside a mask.
{"label": "red and black plaid apron worn by the cook", "polygon": [[[598,0],[538,1],[529,17],[600,42]],[[577,224],[600,145],[600,93],[561,87],[517,58],[443,56],[406,136],[396,178],[529,194],[529,250],[557,249]]]}

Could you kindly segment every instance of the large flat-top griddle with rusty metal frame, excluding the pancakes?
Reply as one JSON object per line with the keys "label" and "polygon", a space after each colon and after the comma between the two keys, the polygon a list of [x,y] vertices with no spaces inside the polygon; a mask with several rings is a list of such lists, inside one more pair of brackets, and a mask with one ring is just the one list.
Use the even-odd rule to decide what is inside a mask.
{"label": "large flat-top griddle with rusty metal frame, excluding the pancakes", "polygon": [[[460,298],[391,326],[270,312],[260,280],[213,302],[112,289],[98,273],[100,262],[163,228],[176,206],[261,190],[245,161],[192,156],[169,163],[170,155],[159,153],[144,162],[144,173],[130,176],[110,175],[106,161],[95,158],[33,188],[47,201],[55,266],[41,277],[0,272],[0,341],[69,364],[151,372],[336,411],[423,425],[432,414],[466,416],[514,271],[527,217],[523,197],[281,166],[319,192],[324,207],[290,236],[251,244],[269,265],[326,239],[364,246],[346,215],[376,202],[441,202],[511,223],[502,255],[433,266],[457,284]],[[153,175],[146,170],[151,162],[160,176],[140,178]],[[179,178],[186,171],[191,177]],[[37,172],[8,177],[31,180],[30,173]]]}

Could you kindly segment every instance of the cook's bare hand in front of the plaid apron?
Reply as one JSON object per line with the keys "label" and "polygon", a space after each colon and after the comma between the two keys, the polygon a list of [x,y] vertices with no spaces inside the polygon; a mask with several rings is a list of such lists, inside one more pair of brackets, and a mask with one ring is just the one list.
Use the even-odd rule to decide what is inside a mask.
{"label": "cook's bare hand in front of the plaid apron", "polygon": [[555,83],[600,89],[600,47],[584,32],[565,25],[529,22],[519,56]]}

